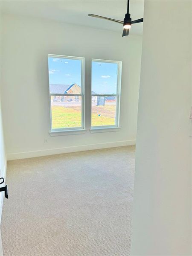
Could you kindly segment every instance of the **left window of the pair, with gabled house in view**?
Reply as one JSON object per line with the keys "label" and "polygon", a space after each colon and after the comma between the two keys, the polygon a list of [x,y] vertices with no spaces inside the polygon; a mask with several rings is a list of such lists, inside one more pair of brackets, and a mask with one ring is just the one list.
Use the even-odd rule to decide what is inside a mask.
{"label": "left window of the pair, with gabled house in view", "polygon": [[84,58],[48,55],[51,131],[84,129]]}

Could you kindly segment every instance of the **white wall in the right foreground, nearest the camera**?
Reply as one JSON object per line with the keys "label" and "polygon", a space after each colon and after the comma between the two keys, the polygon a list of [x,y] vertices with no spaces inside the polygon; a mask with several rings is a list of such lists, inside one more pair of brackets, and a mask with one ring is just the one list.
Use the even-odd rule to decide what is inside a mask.
{"label": "white wall in the right foreground, nearest the camera", "polygon": [[131,256],[191,252],[191,1],[145,1]]}

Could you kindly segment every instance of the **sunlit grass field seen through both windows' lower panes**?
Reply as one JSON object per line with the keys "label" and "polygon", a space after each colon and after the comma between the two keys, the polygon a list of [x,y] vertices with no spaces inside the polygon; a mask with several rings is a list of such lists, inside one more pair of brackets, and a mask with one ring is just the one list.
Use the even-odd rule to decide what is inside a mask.
{"label": "sunlit grass field seen through both windows' lower panes", "polygon": [[[93,106],[92,126],[114,125],[115,105]],[[81,127],[81,108],[52,106],[52,129]]]}

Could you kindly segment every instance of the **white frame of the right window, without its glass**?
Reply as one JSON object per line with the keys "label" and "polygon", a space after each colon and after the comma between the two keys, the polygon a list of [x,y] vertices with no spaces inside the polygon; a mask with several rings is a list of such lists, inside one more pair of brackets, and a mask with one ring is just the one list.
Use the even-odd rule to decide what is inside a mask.
{"label": "white frame of the right window, without its glass", "polygon": [[[110,60],[102,60],[102,59],[91,59],[91,67],[92,62],[104,62],[104,63],[116,63],[117,68],[117,81],[116,81],[116,94],[92,94],[91,93],[91,129],[90,130],[105,130],[107,131],[110,128],[120,128],[120,101],[121,101],[121,78],[122,78],[122,61],[110,61]],[[91,68],[92,74],[92,68]],[[91,92],[92,92],[92,79],[91,79]],[[99,126],[92,126],[92,96],[115,96],[116,97],[116,119],[115,125],[99,125]]]}

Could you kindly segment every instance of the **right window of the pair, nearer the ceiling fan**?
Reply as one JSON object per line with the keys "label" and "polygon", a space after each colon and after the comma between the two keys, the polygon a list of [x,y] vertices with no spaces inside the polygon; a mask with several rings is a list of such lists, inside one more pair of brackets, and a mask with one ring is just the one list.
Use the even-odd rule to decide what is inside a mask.
{"label": "right window of the pair, nearer the ceiling fan", "polygon": [[119,126],[121,61],[92,59],[92,128]]}

